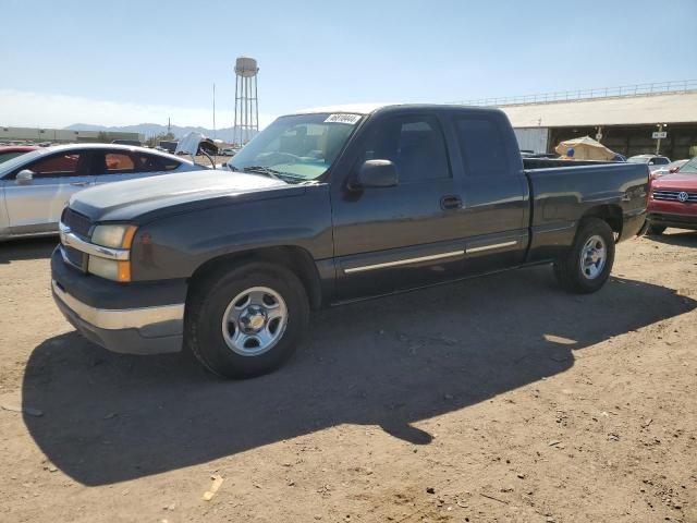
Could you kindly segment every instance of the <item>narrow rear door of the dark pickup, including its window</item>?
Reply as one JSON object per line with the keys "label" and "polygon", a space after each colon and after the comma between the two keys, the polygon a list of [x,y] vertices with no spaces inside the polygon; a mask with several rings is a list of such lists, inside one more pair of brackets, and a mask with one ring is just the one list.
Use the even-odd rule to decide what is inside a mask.
{"label": "narrow rear door of the dark pickup, including its window", "polygon": [[464,168],[467,272],[518,265],[527,250],[529,191],[515,135],[503,114],[463,111],[452,123]]}

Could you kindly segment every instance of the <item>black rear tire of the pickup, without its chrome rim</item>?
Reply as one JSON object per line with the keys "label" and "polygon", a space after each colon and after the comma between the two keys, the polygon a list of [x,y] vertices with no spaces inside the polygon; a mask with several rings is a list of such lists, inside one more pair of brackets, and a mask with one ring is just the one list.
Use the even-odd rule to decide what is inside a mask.
{"label": "black rear tire of the pickup, without its chrome rim", "polygon": [[[604,243],[606,257],[602,269],[590,277],[583,267],[582,251],[592,236],[600,236]],[[565,256],[554,263],[554,276],[559,284],[568,292],[589,294],[598,291],[608,280],[614,263],[614,234],[610,226],[599,218],[582,221],[574,244]]]}

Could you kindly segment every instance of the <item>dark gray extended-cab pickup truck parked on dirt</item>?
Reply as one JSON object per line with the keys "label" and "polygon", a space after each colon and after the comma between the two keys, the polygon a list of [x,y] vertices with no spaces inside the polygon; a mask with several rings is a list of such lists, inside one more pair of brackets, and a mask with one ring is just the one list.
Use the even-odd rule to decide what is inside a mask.
{"label": "dark gray extended-cab pickup truck parked on dirt", "polygon": [[644,226],[648,179],[638,163],[524,160],[494,109],[302,111],[224,171],[75,195],[52,290],[109,350],[186,346],[216,374],[255,376],[325,305],[534,264],[597,291],[615,242]]}

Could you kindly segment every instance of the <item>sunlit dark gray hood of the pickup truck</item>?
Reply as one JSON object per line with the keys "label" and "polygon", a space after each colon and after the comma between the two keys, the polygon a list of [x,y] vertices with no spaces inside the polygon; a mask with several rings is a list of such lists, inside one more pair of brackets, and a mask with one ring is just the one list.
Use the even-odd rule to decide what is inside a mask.
{"label": "sunlit dark gray hood of the pickup truck", "polygon": [[[247,200],[304,192],[304,187],[257,174],[201,170],[108,183],[75,194],[70,207],[91,221],[132,221],[154,212],[210,207],[216,200]],[[286,193],[289,191],[289,193]],[[269,194],[271,192],[271,194]]]}

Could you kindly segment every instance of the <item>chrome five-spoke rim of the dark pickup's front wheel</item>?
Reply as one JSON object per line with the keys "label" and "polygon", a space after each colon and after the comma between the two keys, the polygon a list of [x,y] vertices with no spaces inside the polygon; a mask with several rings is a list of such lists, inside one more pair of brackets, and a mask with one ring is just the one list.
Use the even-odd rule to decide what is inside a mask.
{"label": "chrome five-spoke rim of the dark pickup's front wheel", "polygon": [[222,315],[222,337],[234,353],[258,356],[271,350],[285,332],[288,307],[268,287],[253,287],[237,294]]}

